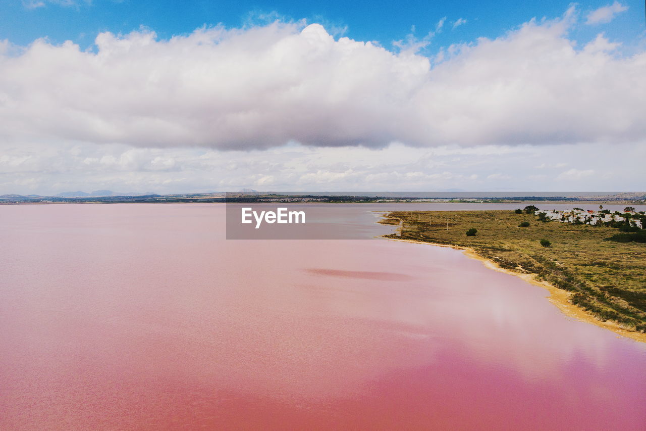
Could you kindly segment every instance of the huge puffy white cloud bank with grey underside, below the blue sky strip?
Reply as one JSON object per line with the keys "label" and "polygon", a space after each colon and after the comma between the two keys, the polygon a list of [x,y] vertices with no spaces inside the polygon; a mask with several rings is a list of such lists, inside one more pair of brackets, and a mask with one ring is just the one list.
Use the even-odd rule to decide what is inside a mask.
{"label": "huge puffy white cloud bank with grey underside, below the blue sky strip", "polygon": [[[93,50],[0,47],[0,139],[266,149],[626,142],[646,133],[646,53],[568,38],[572,10],[433,60],[318,24],[102,33]],[[443,21],[441,21],[443,23]]]}

